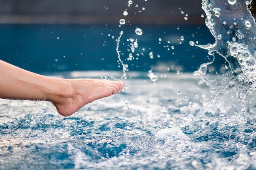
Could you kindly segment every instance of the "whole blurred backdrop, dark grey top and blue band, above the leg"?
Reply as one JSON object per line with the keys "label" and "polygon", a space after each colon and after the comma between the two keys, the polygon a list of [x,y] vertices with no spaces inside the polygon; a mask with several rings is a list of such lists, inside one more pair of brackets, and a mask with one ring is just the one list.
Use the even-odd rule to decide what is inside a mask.
{"label": "whole blurred backdrop, dark grey top and blue band, above the leg", "polygon": [[[201,0],[0,0],[0,59],[36,73],[121,71],[124,31],[119,51],[129,70],[192,72],[212,60],[189,45],[214,42],[204,19]],[[211,67],[223,65],[217,57]]]}

